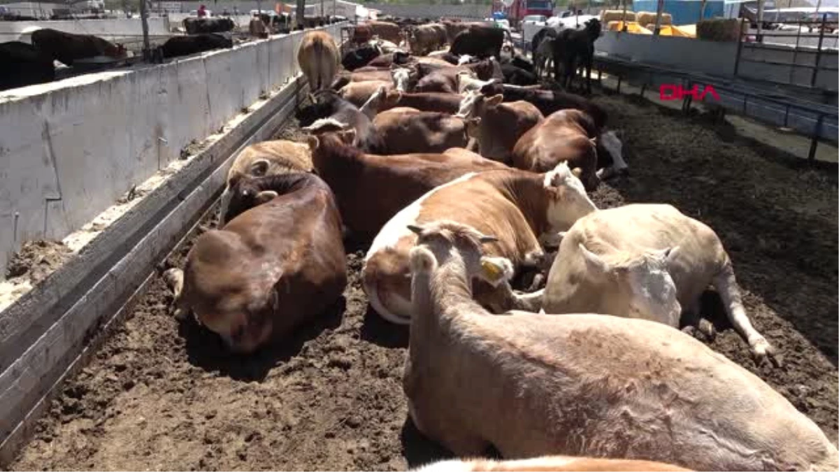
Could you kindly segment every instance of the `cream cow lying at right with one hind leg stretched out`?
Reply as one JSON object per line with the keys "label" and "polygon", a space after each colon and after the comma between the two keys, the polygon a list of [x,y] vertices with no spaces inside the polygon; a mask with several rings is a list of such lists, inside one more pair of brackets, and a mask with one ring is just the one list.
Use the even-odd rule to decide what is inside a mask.
{"label": "cream cow lying at right with one hind leg stretched out", "polygon": [[[698,323],[700,298],[709,285],[755,359],[775,360],[772,346],[748,320],[717,233],[670,205],[626,205],[578,221],[550,268],[544,307],[550,313],[605,313],[679,328],[684,321]],[[700,325],[711,334],[709,327]]]}

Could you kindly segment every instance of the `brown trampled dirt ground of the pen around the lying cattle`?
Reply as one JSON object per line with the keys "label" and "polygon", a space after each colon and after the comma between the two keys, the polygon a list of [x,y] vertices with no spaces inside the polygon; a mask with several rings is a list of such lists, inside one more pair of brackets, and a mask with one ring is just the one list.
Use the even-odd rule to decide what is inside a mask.
{"label": "brown trampled dirt ground of the pen around the lying cattle", "polygon": [[[730,329],[711,347],[839,441],[839,171],[796,167],[701,117],[627,97],[597,100],[623,130],[631,173],[601,186],[595,202],[670,202],[715,228],[754,324],[785,364],[756,368]],[[180,265],[188,249],[167,265]],[[12,469],[404,470],[446,457],[406,421],[407,331],[367,308],[363,249],[347,249],[340,307],[253,357],[229,356],[211,333],[175,323],[156,278],[65,385]],[[709,296],[703,310],[718,314],[718,300]]]}

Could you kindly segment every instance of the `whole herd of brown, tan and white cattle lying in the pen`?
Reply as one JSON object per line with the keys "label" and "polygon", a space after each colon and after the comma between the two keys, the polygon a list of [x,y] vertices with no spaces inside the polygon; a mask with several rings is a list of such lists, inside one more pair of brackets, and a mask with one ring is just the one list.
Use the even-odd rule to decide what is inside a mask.
{"label": "whole herd of brown, tan and white cattle lying in the pen", "polygon": [[373,309],[409,325],[414,425],[461,458],[507,459],[419,470],[839,469],[814,422],[679,329],[713,334],[699,301],[714,286],[754,359],[779,364],[717,234],[670,205],[591,202],[626,167],[607,113],[507,83],[515,58],[479,26],[434,36],[447,52],[394,41],[427,51],[427,30],[362,29],[344,57],[305,34],[307,142],[237,156],[220,228],[164,274],[176,317],[245,354],[289,336],[338,301],[352,237],[370,243]]}

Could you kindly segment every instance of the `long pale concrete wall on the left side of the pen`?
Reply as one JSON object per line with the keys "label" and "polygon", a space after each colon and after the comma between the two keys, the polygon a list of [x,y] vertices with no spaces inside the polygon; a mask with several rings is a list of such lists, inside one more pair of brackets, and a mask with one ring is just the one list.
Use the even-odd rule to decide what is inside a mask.
{"label": "long pale concrete wall on the left side of the pen", "polygon": [[[341,24],[326,30],[340,39]],[[0,92],[0,267],[23,241],[81,228],[297,76],[302,36]]]}

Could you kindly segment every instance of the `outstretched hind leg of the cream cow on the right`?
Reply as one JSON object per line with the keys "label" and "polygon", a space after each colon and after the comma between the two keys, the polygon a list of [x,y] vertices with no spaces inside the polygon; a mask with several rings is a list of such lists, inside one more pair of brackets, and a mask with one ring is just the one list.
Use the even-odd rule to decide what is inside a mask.
{"label": "outstretched hind leg of the cream cow on the right", "polygon": [[732,268],[731,261],[727,261],[720,273],[714,277],[713,286],[720,294],[722,304],[726,307],[726,313],[732,326],[748,343],[755,362],[762,364],[763,360],[769,357],[769,360],[775,366],[779,366],[781,361],[776,357],[774,347],[769,344],[766,338],[763,338],[761,333],[758,333],[758,330],[752,326],[752,322],[748,319],[746,309],[743,307],[740,287],[737,286],[737,280],[734,277],[734,269]]}

